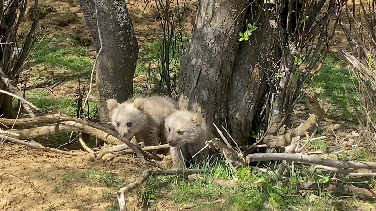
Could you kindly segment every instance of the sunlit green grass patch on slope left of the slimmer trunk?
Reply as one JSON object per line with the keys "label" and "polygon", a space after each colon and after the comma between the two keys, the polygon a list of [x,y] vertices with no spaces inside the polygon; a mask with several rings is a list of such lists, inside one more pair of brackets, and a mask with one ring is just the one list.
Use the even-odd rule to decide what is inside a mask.
{"label": "sunlit green grass patch on slope left of the slimmer trunk", "polygon": [[52,42],[63,42],[67,38],[67,36],[61,36],[43,39],[31,53],[31,59],[37,63],[49,64],[64,69],[64,73],[69,75],[70,79],[89,76],[93,61],[85,55],[86,47],[79,45],[74,40],[72,40],[73,46],[51,45]]}

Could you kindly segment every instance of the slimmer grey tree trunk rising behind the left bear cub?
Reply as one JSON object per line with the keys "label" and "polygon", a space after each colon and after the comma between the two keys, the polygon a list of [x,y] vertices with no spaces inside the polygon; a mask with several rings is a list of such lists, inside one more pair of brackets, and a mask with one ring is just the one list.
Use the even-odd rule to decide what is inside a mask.
{"label": "slimmer grey tree trunk rising behind the left bear cub", "polygon": [[[90,30],[94,47],[100,50],[100,39],[94,0],[81,0],[80,6]],[[108,121],[106,101],[126,101],[133,95],[133,75],[138,59],[138,43],[126,3],[120,0],[97,0],[98,24],[102,51],[96,67],[101,121]]]}

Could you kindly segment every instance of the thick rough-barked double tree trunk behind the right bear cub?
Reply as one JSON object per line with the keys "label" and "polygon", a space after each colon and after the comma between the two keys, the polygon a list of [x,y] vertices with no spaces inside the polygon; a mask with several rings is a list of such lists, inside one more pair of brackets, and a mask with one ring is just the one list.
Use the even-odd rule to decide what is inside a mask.
{"label": "thick rough-barked double tree trunk behind the right bear cub", "polygon": [[[223,125],[240,144],[249,141],[260,101],[267,89],[264,68],[271,62],[274,47],[265,30],[265,17],[255,25],[250,42],[239,42],[239,33],[246,30],[252,11],[246,0],[200,1],[193,35],[181,59],[179,75],[179,106],[201,112],[213,134],[213,123]],[[253,23],[248,21],[248,23]]]}

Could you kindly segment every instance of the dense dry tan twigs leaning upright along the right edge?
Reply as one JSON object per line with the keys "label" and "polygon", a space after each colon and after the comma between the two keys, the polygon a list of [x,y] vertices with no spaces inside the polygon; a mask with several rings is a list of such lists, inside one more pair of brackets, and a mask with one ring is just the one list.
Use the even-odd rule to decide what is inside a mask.
{"label": "dense dry tan twigs leaning upright along the right edge", "polygon": [[[350,52],[340,48],[352,64],[350,74],[355,76],[355,93],[359,102],[353,102],[358,117],[359,130],[364,137],[369,154],[376,155],[376,3],[375,1],[350,1],[344,8],[346,16],[340,25],[349,41]],[[349,99],[350,96],[347,93]],[[360,106],[359,106],[360,105]]]}

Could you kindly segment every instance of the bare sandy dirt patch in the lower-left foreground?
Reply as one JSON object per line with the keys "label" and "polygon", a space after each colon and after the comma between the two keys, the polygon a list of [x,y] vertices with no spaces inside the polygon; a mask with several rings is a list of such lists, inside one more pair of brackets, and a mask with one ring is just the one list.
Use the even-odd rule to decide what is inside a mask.
{"label": "bare sandy dirt patch in the lower-left foreground", "polygon": [[[85,178],[85,173],[115,173],[128,183],[142,169],[134,158],[95,162],[89,158],[28,151],[15,145],[0,147],[0,210],[109,210],[117,201],[118,187],[106,187],[101,178]],[[137,210],[136,203],[136,196],[130,194],[129,210]]]}

